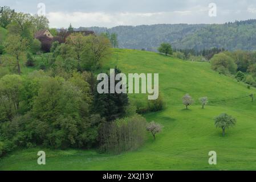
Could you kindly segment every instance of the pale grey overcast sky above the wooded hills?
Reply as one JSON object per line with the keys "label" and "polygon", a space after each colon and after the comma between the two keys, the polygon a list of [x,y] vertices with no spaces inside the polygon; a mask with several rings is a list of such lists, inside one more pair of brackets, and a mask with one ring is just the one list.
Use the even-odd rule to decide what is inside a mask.
{"label": "pale grey overcast sky above the wooded hills", "polygon": [[[256,0],[0,0],[0,6],[31,14],[38,13],[38,3],[44,3],[50,27],[56,28],[70,23],[74,27],[114,27],[256,19]],[[217,6],[216,16],[209,16],[210,3]]]}

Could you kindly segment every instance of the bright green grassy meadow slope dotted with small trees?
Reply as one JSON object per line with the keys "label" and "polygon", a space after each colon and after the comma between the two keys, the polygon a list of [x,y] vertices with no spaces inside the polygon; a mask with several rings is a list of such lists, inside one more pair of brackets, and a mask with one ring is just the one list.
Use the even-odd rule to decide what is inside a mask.
{"label": "bright green grassy meadow slope dotted with small trees", "polygon": [[[124,73],[159,73],[166,109],[145,115],[148,121],[155,120],[165,126],[155,141],[149,135],[139,150],[116,156],[93,150],[32,148],[13,152],[0,160],[0,170],[256,169],[256,103],[244,97],[255,93],[255,89],[247,89],[245,84],[219,75],[210,69],[209,63],[182,61],[152,52],[115,49],[113,59],[104,69],[115,65]],[[196,101],[190,110],[184,110],[181,104],[185,93]],[[210,100],[204,110],[198,103],[201,96]],[[145,104],[147,96],[133,94],[131,100]],[[213,118],[224,112],[238,122],[227,130],[226,137],[221,137]],[[46,166],[36,164],[39,150],[46,151]],[[208,164],[208,152],[212,150],[217,152],[216,166]]]}

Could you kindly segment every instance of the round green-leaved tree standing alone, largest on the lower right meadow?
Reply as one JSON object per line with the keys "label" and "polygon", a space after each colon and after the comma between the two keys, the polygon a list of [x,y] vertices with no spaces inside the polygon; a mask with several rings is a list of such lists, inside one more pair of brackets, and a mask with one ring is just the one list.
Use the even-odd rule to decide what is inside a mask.
{"label": "round green-leaved tree standing alone, largest on the lower right meadow", "polygon": [[227,115],[226,113],[219,115],[214,118],[215,126],[222,129],[222,136],[225,136],[225,130],[229,127],[232,127],[237,122],[235,118],[231,117],[231,115]]}

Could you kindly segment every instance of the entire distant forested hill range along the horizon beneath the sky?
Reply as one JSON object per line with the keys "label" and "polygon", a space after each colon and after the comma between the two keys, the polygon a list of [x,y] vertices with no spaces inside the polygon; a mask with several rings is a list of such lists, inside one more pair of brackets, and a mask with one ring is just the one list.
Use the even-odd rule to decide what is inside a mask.
{"label": "entire distant forested hill range along the horizon beneath the sky", "polygon": [[80,27],[77,30],[94,30],[97,33],[115,32],[119,47],[156,51],[162,42],[175,48],[196,50],[213,47],[256,50],[256,19],[225,24],[155,24],[117,26],[113,28]]}

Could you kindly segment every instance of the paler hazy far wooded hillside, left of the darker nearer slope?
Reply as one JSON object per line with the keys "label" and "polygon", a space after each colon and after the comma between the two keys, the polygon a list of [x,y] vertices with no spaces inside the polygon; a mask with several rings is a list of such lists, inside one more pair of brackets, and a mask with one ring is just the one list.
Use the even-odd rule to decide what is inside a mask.
{"label": "paler hazy far wooded hillside, left of the darker nearer slope", "polygon": [[[113,33],[117,34],[120,48],[139,50],[144,48],[147,51],[157,51],[157,47],[159,47],[161,43],[169,42],[174,46],[174,43],[176,43],[177,40],[193,34],[205,26],[207,25],[154,24],[141,26],[117,26],[113,28],[90,27],[88,29],[95,31],[98,34],[102,32],[108,32],[109,35]],[[86,28],[79,28],[79,30],[86,30]]]}

